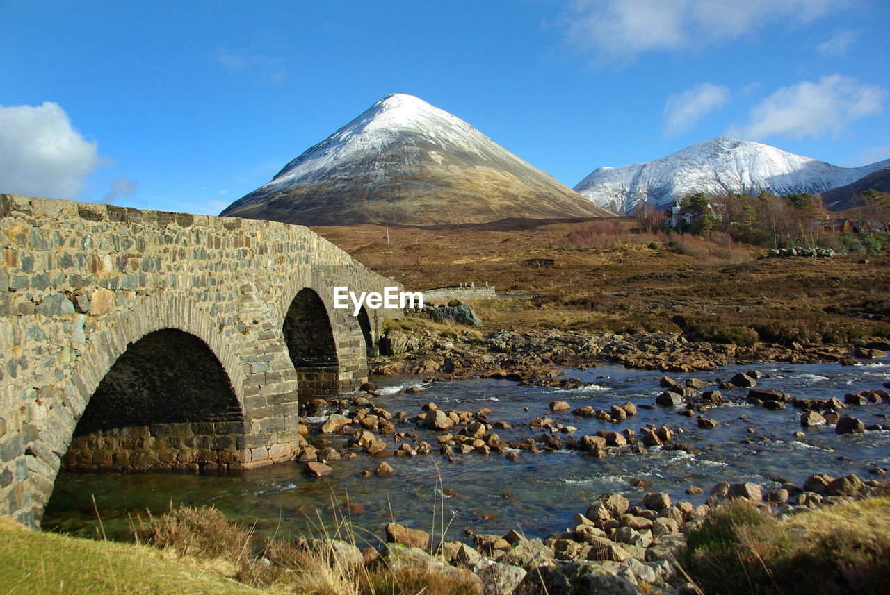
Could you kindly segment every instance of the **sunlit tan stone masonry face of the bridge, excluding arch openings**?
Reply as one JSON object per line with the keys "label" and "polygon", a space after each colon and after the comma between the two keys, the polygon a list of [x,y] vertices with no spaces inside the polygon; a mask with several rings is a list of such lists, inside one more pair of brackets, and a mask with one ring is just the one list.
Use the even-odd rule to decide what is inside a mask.
{"label": "sunlit tan stone masonry face of the bridge, excluding arch openings", "polygon": [[[77,420],[128,345],[162,329],[198,337],[242,409],[231,464],[285,460],[301,440],[282,335],[291,301],[318,293],[350,387],[367,377],[366,345],[358,321],[333,310],[331,288],[392,284],[303,226],[5,194],[0,250],[0,514],[32,526]],[[384,312],[368,316],[376,342]]]}

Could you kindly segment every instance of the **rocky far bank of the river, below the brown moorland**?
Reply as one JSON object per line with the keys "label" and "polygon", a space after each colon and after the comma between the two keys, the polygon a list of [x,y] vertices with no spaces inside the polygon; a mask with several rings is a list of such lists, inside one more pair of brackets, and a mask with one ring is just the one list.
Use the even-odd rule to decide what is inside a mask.
{"label": "rocky far bank of the river, below the brown moorland", "polygon": [[559,330],[499,330],[482,336],[455,328],[448,337],[429,329],[390,329],[381,340],[385,357],[368,362],[372,374],[419,374],[433,380],[502,377],[534,382],[562,374],[561,368],[585,369],[597,363],[619,363],[633,369],[662,372],[714,370],[732,363],[841,362],[886,357],[862,345],[783,345],[749,347],[690,341],[682,335],[643,333],[584,334]]}

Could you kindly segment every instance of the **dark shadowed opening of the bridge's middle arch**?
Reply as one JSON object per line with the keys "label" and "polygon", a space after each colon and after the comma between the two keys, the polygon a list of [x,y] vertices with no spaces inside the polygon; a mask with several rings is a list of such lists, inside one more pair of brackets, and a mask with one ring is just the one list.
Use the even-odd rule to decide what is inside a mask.
{"label": "dark shadowed opening of the bridge's middle arch", "polygon": [[299,290],[281,326],[302,398],[336,394],[340,366],[328,308],[312,288]]}

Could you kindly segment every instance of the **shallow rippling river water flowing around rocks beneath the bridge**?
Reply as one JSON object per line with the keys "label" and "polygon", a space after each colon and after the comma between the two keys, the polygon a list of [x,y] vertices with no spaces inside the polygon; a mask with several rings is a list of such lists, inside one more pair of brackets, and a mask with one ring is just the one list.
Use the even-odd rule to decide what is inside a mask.
{"label": "shallow rippling river water flowing around rocks beneath the bridge", "polygon": [[[698,377],[708,382],[732,377],[751,367],[726,367],[716,372],[671,375],[681,382]],[[790,393],[797,398],[843,399],[844,393],[881,388],[890,380],[890,365],[839,364],[756,366],[766,376],[758,386]],[[530,417],[548,412],[549,401],[569,401],[572,408],[591,405],[609,409],[611,404],[631,401],[638,407],[654,402],[659,388],[658,371],[639,371],[621,366],[601,365],[585,371],[571,371],[590,385],[574,390],[554,390],[516,386],[506,380],[456,380],[426,385],[420,394],[399,391],[421,385],[419,377],[385,377],[376,405],[392,413],[404,410],[413,417],[428,401],[441,409],[477,411],[491,409],[491,423],[505,420],[514,424],[508,430],[495,430],[501,440],[538,436],[540,428],[530,429]],[[713,386],[712,386],[713,388]],[[352,525],[369,543],[371,534],[382,536],[386,522],[396,520],[411,527],[430,530],[441,527],[442,510],[450,523],[449,539],[463,537],[461,529],[477,533],[504,534],[511,528],[526,536],[545,536],[568,527],[575,512],[605,491],[625,494],[631,502],[647,491],[668,492],[672,499],[701,504],[708,489],[720,480],[754,481],[765,489],[790,480],[801,485],[814,472],[832,476],[856,473],[871,476],[872,466],[890,467],[890,431],[838,435],[833,426],[814,428],[800,440],[800,410],[773,411],[743,401],[747,389],[724,391],[724,397],[739,399],[735,404],[709,409],[706,416],[721,424],[701,430],[695,418],[677,415],[677,409],[639,409],[636,417],[611,424],[595,418],[575,418],[570,413],[554,414],[554,420],[578,428],[580,437],[600,429],[639,430],[644,424],[667,424],[678,430],[675,441],[689,444],[697,454],[684,450],[649,448],[645,454],[619,453],[603,459],[584,456],[577,450],[531,454],[521,451],[521,460],[505,456],[457,455],[453,462],[438,454],[395,457],[385,460],[397,474],[381,479],[363,477],[373,471],[379,459],[360,454],[357,459],[332,463],[334,473],[310,479],[302,474],[303,464],[285,463],[230,475],[190,475],[185,473],[70,473],[61,472],[53,498],[44,515],[43,527],[80,535],[94,535],[97,529],[93,497],[109,534],[132,538],[130,518],[144,516],[145,510],[164,512],[173,504],[214,505],[229,518],[254,526],[256,531],[279,536],[300,535],[330,525],[338,514],[351,516]],[[529,408],[525,411],[524,408]],[[847,409],[865,424],[890,427],[890,403]],[[752,428],[754,432],[749,432]],[[397,426],[397,431],[413,432],[433,444],[433,432],[415,430],[413,425]],[[326,438],[331,438],[326,436]],[[387,437],[392,439],[392,437]],[[753,443],[742,443],[752,440]],[[392,440],[388,440],[392,445]],[[333,445],[345,445],[342,437]],[[643,480],[644,484],[640,484]],[[685,488],[699,486],[700,496],[684,494]],[[351,504],[347,507],[345,504]]]}

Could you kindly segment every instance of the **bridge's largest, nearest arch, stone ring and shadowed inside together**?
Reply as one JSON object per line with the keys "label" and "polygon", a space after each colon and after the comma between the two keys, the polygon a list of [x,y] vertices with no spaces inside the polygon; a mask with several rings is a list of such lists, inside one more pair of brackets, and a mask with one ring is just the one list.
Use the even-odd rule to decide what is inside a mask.
{"label": "bridge's largest, nearest arch, stone ring and shadowed inside together", "polygon": [[[35,470],[30,478],[30,497],[36,522],[52,496],[62,466],[84,470],[197,470],[206,465],[225,469],[231,464],[238,466],[242,460],[238,442],[247,428],[243,364],[233,345],[214,332],[209,316],[188,300],[152,296],[134,300],[127,310],[109,313],[108,318],[109,324],[94,330],[84,350],[77,354],[69,382],[57,389],[59,394],[47,408],[44,424],[35,432],[34,440],[25,445],[28,467]],[[152,365],[145,361],[147,356],[162,361]],[[165,370],[158,363],[173,363],[175,369],[167,371],[190,373],[190,377],[179,382],[173,379],[165,387],[160,377]],[[144,377],[148,370],[152,370],[152,376]],[[213,402],[211,416],[176,419],[171,417],[174,409],[166,408],[164,415],[151,417],[148,408],[157,401],[135,403],[132,408],[117,401],[121,396],[145,396],[156,388],[171,396],[188,386],[187,381],[194,381],[196,373],[203,373],[203,379],[210,380],[218,392],[216,399],[205,399],[205,407],[199,409],[206,413],[206,404]],[[125,385],[129,385],[128,390]],[[197,394],[191,391],[179,396]],[[97,401],[93,403],[93,399]],[[109,407],[111,410],[105,412],[108,415],[103,415],[101,409]],[[115,423],[114,417],[121,423]]]}

